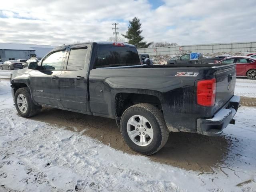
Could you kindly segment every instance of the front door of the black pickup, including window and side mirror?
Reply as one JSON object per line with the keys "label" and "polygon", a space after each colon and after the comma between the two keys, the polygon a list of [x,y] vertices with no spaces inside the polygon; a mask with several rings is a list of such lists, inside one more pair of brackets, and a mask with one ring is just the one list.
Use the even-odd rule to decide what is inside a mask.
{"label": "front door of the black pickup, including window and side mirror", "polygon": [[38,63],[39,70],[30,73],[31,92],[36,102],[61,107],[60,74],[65,56],[66,47],[55,49]]}

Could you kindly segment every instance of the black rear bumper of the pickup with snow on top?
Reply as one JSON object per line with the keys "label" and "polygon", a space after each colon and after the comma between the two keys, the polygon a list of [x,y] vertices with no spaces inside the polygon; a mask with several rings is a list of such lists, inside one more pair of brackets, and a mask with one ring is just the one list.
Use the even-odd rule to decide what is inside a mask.
{"label": "black rear bumper of the pickup with snow on top", "polygon": [[233,96],[228,107],[218,111],[213,118],[198,119],[196,122],[197,132],[202,135],[218,136],[228,124],[235,124],[235,116],[240,103],[240,96]]}

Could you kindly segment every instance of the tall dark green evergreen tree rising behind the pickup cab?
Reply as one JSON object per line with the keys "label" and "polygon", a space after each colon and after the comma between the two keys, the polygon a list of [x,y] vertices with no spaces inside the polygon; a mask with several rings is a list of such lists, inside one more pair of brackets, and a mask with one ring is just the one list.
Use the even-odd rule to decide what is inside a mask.
{"label": "tall dark green evergreen tree rising behind the pickup cab", "polygon": [[140,30],[141,23],[137,17],[134,17],[131,21],[129,21],[128,31],[126,31],[126,35],[122,34],[126,39],[128,39],[127,43],[133,44],[136,48],[148,48],[153,42],[147,43],[143,42],[143,36],[140,34],[143,30]]}

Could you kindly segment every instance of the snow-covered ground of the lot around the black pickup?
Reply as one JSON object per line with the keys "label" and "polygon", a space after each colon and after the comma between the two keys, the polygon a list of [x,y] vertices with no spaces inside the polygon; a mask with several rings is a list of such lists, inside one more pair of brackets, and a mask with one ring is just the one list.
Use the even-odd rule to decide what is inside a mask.
{"label": "snow-covered ground of the lot around the black pickup", "polygon": [[[241,80],[239,83],[248,82]],[[251,88],[249,88],[251,89]],[[247,92],[247,91],[246,91]],[[0,82],[0,191],[256,191],[256,108],[240,107],[236,124],[224,129],[221,160],[211,171],[189,169],[196,157],[184,150],[188,168],[128,154],[86,136],[81,130],[18,116],[10,82]],[[54,121],[54,119],[53,119]],[[188,140],[193,134],[187,134]],[[197,137],[190,150],[197,149]],[[220,139],[210,139],[214,147]],[[170,151],[165,153],[173,153]],[[216,150],[216,149],[215,149]],[[189,156],[186,156],[188,154]],[[204,153],[203,153],[204,154]],[[205,152],[205,159],[215,154]],[[170,158],[172,154],[169,154]],[[154,156],[153,156],[154,157]],[[198,162],[198,166],[200,163]]]}

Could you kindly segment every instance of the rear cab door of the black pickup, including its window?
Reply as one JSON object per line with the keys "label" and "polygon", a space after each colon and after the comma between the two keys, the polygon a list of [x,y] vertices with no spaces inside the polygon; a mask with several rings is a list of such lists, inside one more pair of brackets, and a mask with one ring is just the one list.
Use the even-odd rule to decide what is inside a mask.
{"label": "rear cab door of the black pickup, including its window", "polygon": [[87,71],[90,44],[70,46],[60,75],[60,100],[64,108],[87,111]]}

